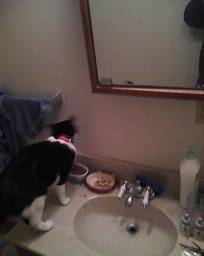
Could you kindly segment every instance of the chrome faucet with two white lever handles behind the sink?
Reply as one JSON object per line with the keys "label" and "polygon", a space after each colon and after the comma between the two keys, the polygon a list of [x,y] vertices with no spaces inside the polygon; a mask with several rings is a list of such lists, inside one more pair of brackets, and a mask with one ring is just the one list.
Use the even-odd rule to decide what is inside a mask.
{"label": "chrome faucet with two white lever handles behind the sink", "polygon": [[124,192],[129,194],[125,201],[125,206],[129,208],[133,205],[134,196],[143,198],[143,208],[148,204],[149,199],[155,198],[155,192],[153,189],[149,185],[146,187],[141,186],[140,180],[136,180],[136,184],[131,184],[125,180],[124,184],[120,187],[117,201],[120,200]]}

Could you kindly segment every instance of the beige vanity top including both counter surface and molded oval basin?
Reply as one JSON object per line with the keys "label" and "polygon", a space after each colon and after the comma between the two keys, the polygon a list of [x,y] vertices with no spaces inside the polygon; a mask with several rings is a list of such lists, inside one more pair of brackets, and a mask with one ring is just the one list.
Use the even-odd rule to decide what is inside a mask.
{"label": "beige vanity top including both counter surface and molded oval basin", "polygon": [[[67,182],[66,189],[68,206],[51,193],[46,198],[43,220],[53,220],[51,230],[36,232],[20,222],[7,239],[44,256],[179,256],[179,243],[194,246],[178,231],[185,210],[175,193],[165,191],[143,209],[139,198],[126,208],[127,194],[117,202],[118,188],[102,194]],[[130,223],[139,225],[136,234],[126,231]],[[204,242],[196,243],[204,248]]]}

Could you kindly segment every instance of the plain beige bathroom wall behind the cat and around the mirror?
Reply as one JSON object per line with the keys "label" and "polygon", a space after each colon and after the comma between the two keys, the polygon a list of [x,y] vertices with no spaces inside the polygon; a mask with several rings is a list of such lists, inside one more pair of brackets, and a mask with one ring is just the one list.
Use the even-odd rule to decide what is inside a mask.
{"label": "plain beige bathroom wall behind the cat and around the mirror", "polygon": [[[63,94],[53,122],[77,116],[78,152],[179,171],[188,144],[204,158],[196,102],[92,94],[77,0],[0,2],[1,90]],[[45,138],[40,134],[37,140]]]}

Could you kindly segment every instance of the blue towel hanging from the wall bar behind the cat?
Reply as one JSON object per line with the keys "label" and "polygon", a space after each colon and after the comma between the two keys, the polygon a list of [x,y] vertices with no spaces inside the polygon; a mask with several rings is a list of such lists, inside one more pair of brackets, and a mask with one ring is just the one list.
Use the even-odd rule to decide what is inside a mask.
{"label": "blue towel hanging from the wall bar behind the cat", "polygon": [[34,139],[50,109],[49,98],[14,97],[0,92],[0,173],[18,153],[16,134]]}

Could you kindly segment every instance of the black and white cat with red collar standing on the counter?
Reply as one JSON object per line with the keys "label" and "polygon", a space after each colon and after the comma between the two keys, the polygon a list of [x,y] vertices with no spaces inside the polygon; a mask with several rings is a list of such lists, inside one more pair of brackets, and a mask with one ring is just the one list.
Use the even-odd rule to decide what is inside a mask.
{"label": "black and white cat with red collar standing on the counter", "polygon": [[20,215],[36,230],[47,231],[53,221],[41,220],[47,189],[52,186],[61,204],[67,205],[65,182],[76,156],[74,118],[51,126],[46,141],[20,150],[0,174],[0,224],[8,215]]}

